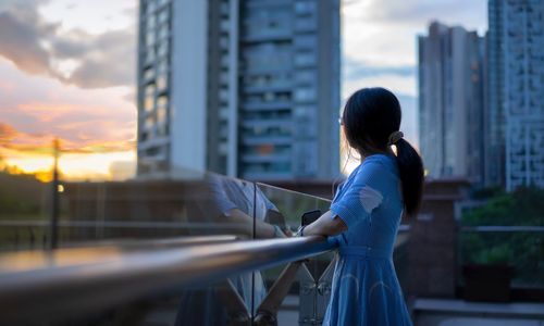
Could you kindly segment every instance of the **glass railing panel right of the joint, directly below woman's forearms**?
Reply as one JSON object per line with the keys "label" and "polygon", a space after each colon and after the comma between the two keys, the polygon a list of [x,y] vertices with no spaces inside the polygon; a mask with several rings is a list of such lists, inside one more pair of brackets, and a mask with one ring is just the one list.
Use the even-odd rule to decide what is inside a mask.
{"label": "glass railing panel right of the joint, directly below woman's forearms", "polygon": [[[274,237],[295,234],[305,213],[310,220],[317,218],[330,206],[329,200],[264,184],[258,184],[257,191],[273,205],[274,213],[265,222],[276,229]],[[329,252],[256,272],[254,316],[277,318],[277,325],[322,318],[329,303],[333,258]]]}

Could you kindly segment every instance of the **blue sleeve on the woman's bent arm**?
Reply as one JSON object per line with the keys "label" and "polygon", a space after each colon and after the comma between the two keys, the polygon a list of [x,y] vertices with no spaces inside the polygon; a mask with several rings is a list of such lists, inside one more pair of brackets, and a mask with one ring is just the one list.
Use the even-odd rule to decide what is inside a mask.
{"label": "blue sleeve on the woman's bent arm", "polygon": [[384,166],[379,162],[363,163],[354,177],[351,185],[342,197],[331,205],[332,216],[338,216],[348,228],[370,217],[372,211],[383,201],[381,184]]}

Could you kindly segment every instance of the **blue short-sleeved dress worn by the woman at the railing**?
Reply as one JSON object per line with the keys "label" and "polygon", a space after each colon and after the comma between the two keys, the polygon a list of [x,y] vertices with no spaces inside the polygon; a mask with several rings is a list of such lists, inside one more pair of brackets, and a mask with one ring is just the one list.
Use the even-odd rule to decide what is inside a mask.
{"label": "blue short-sleeved dress worn by the woman at the railing", "polygon": [[395,156],[368,156],[339,187],[331,211],[348,229],[330,238],[339,256],[323,325],[412,325],[393,266],[403,209]]}

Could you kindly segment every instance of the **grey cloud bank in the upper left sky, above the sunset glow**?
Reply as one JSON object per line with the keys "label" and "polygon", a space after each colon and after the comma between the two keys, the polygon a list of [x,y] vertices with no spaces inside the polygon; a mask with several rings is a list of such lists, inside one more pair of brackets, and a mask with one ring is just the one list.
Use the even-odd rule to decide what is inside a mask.
{"label": "grey cloud bank in the upper left sky, above the sunset glow", "polygon": [[[44,1],[0,5],[0,55],[20,70],[82,88],[128,86],[135,78],[134,28],[90,35],[45,22]],[[66,63],[70,70],[63,68]]]}

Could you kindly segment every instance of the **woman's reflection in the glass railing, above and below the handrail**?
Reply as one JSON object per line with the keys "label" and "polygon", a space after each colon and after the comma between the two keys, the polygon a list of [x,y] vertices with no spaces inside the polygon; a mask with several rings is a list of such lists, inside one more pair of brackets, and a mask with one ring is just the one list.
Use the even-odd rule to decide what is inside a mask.
{"label": "woman's reflection in the glass railing, above and below the handrail", "polygon": [[[254,183],[210,174],[205,187],[207,213],[218,216],[220,223],[236,225],[238,235],[260,239],[285,236],[284,216]],[[233,317],[227,302],[236,298],[246,312],[251,311],[248,315],[255,315],[265,293],[260,272],[242,273],[205,289],[188,289],[182,296],[176,325],[226,325]]]}

